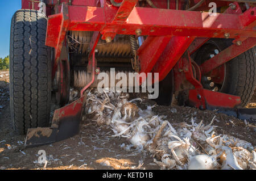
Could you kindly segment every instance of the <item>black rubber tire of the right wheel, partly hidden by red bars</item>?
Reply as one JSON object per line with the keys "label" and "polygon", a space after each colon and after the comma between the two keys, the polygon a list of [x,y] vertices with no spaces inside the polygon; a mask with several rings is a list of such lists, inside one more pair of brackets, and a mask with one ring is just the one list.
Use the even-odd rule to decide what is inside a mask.
{"label": "black rubber tire of the right wheel, partly hidden by red bars", "polygon": [[[224,50],[232,44],[232,40],[211,39],[197,54],[195,61],[197,64],[203,63],[205,55],[208,54],[207,46],[215,44],[219,50]],[[241,106],[245,107],[254,94],[256,86],[256,56],[255,47],[243,52],[236,58],[226,62],[225,84],[221,92],[237,95],[241,97]]]}

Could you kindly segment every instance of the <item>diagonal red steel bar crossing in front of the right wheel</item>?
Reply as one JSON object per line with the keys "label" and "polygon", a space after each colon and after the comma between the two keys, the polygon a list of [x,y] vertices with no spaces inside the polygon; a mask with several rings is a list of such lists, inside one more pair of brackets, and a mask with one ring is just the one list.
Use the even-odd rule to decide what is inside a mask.
{"label": "diagonal red steel bar crossing in front of the right wheel", "polygon": [[256,45],[256,38],[248,38],[242,42],[240,46],[233,44],[230,47],[224,49],[216,56],[210,58],[209,60],[205,61],[202,65],[200,65],[201,73],[206,74],[209,71],[217,68],[218,66],[225,64],[232,58],[237,57],[241,53],[245,52],[246,50],[253,48]]}

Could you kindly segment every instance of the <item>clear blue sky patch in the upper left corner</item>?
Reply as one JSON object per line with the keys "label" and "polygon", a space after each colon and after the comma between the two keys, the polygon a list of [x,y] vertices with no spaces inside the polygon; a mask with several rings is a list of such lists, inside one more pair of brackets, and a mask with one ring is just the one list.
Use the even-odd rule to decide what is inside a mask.
{"label": "clear blue sky patch in the upper left corner", "polygon": [[0,0],[0,58],[9,55],[11,18],[22,0]]}

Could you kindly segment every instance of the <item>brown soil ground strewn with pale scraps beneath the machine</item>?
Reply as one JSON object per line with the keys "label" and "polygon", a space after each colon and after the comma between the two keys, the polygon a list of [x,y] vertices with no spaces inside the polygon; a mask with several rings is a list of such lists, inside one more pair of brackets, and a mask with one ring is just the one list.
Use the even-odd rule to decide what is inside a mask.
{"label": "brown soil ground strewn with pale scraps beneath the machine", "polygon": [[[43,169],[38,161],[38,151],[45,150],[48,163],[46,169],[159,169],[152,155],[146,151],[137,153],[126,151],[121,144],[125,138],[111,137],[108,127],[97,127],[95,123],[83,121],[80,134],[64,141],[36,148],[24,149],[25,136],[13,129],[9,106],[9,71],[0,71],[0,169]],[[143,96],[142,96],[142,99]],[[151,100],[138,104],[142,109],[155,104]],[[256,107],[256,91],[247,107]],[[176,111],[172,111],[176,110]],[[156,106],[157,115],[166,115],[171,124],[190,123],[191,117],[199,123],[209,124],[216,115],[217,133],[230,134],[256,145],[255,123],[246,125],[244,121],[213,111],[200,111],[179,106]],[[142,164],[143,163],[143,164]]]}

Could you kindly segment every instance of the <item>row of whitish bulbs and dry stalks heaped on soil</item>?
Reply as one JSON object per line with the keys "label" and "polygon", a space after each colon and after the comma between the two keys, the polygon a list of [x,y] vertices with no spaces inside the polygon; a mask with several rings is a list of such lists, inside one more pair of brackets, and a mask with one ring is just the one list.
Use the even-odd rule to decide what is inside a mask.
{"label": "row of whitish bulbs and dry stalks heaped on soil", "polygon": [[130,144],[122,144],[121,148],[149,152],[161,169],[256,169],[253,145],[227,134],[217,134],[216,116],[207,125],[203,120],[196,123],[193,117],[191,124],[172,125],[165,116],[152,112],[155,105],[145,110],[139,108],[136,102],[142,102],[141,98],[129,101],[127,93],[96,89],[86,94],[85,119],[95,121],[99,127],[109,126],[112,137],[129,141]]}

